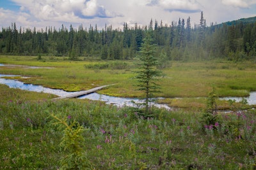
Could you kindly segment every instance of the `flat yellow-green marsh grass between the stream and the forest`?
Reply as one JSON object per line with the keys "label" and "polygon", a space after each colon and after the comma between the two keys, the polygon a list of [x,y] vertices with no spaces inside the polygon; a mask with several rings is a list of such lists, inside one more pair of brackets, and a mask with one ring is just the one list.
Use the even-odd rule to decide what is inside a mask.
{"label": "flat yellow-green marsh grass between the stream and the forest", "polygon": [[[100,90],[100,94],[118,97],[141,97],[143,94],[134,87],[136,66],[134,61],[70,61],[65,57],[42,56],[42,60],[29,56],[0,56],[0,63],[15,64],[1,66],[1,74],[28,76],[21,81],[43,85],[53,89],[67,91],[88,90],[101,85],[117,83]],[[21,67],[21,66],[24,67]],[[31,69],[25,66],[37,66]],[[207,62],[171,62],[163,69],[164,77],[157,82],[161,92],[157,97],[165,97],[170,106],[197,107],[204,100],[194,97],[206,97],[211,85],[216,85],[218,96],[248,96],[256,91],[256,66],[250,61],[207,61]],[[182,97],[185,99],[173,99]],[[179,102],[180,101],[180,102]],[[163,102],[163,101],[162,101]],[[180,103],[180,104],[179,104]],[[186,106],[182,106],[186,104]]]}

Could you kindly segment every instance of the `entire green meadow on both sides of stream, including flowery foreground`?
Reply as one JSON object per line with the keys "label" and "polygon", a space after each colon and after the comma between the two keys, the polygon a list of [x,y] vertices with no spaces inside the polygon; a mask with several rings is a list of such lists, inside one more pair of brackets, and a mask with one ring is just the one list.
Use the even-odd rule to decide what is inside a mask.
{"label": "entire green meadow on both sides of stream, including flowery foreground", "polygon": [[[67,92],[116,83],[97,93],[143,97],[133,60],[0,55],[0,64],[0,74],[19,75],[6,79]],[[151,108],[150,117],[0,84],[0,169],[255,169],[255,105],[218,99],[256,92],[255,62],[172,61],[162,71],[156,103],[174,109]]]}

